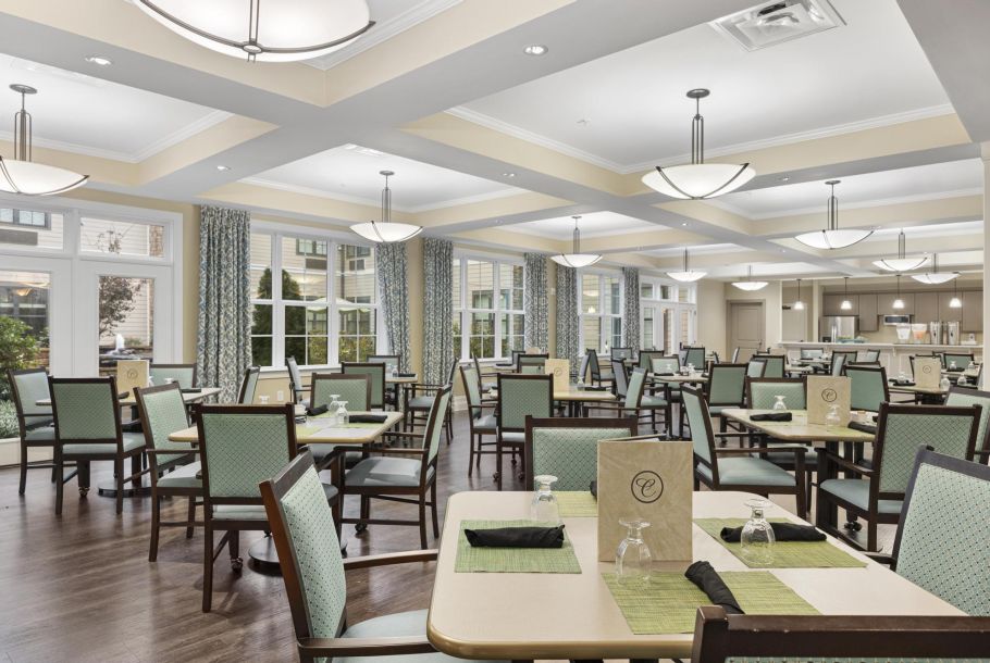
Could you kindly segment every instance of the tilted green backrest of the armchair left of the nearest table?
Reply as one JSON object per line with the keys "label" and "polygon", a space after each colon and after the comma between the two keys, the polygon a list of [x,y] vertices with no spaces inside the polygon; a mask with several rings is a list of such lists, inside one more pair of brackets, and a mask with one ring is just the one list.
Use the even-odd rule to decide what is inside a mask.
{"label": "tilted green backrest of the armchair left of the nearest table", "polygon": [[260,486],[297,640],[344,631],[347,584],[341,543],[310,452]]}

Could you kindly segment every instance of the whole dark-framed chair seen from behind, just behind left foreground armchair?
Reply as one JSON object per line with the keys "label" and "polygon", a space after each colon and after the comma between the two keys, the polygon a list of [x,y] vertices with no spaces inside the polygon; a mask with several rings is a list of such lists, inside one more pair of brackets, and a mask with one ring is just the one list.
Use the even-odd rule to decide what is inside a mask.
{"label": "whole dark-framed chair seen from behind, just behind left foreground armchair", "polygon": [[[269,531],[258,486],[279,474],[296,454],[294,405],[201,405],[196,415],[202,458],[202,611],[213,599],[213,562],[226,546],[239,572],[242,531]],[[324,485],[323,497],[339,513],[339,495]],[[339,517],[335,518],[339,523]],[[214,533],[223,537],[213,547]]]}

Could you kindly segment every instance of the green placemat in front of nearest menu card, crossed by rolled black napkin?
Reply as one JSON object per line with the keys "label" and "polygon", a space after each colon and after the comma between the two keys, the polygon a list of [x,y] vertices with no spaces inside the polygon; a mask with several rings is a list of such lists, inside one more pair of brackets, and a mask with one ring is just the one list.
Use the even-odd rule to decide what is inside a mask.
{"label": "green placemat in front of nearest menu card, crossed by rolled black napkin", "polygon": [[[767,571],[719,573],[751,615],[816,615],[818,611]],[[612,573],[602,574],[629,628],[638,636],[691,633],[697,609],[711,601],[682,573],[655,572],[649,583],[627,587]]]}

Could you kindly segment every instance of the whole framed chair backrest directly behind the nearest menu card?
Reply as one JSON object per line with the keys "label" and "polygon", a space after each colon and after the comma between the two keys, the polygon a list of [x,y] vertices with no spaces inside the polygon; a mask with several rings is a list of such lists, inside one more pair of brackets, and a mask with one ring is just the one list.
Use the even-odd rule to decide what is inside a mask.
{"label": "whole framed chair backrest directly behind the nearest menu card", "polygon": [[527,489],[534,477],[557,477],[554,490],[587,490],[598,475],[598,441],[636,434],[635,417],[525,418]]}

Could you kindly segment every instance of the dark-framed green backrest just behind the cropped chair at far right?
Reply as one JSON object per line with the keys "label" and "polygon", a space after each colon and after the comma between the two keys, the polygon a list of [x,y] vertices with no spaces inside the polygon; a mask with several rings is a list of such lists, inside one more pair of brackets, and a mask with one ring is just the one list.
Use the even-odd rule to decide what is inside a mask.
{"label": "dark-framed green backrest just behind the cropped chair at far right", "polygon": [[870,497],[904,499],[919,447],[972,460],[979,428],[979,405],[892,405],[882,403],[874,445]]}

